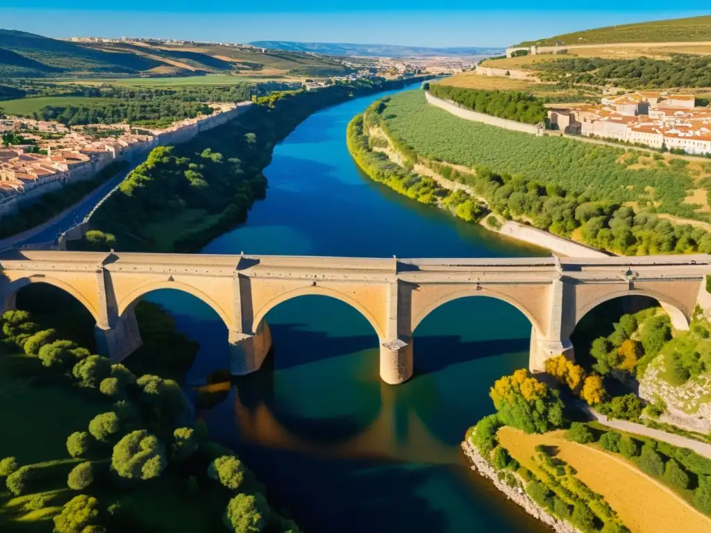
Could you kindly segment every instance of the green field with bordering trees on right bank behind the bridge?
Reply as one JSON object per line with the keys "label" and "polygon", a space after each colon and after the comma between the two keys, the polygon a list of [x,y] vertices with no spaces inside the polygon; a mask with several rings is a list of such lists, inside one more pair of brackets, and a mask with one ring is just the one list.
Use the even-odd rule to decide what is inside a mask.
{"label": "green field with bordering trees on right bank behind the bridge", "polygon": [[[368,138],[373,126],[402,156],[400,170],[373,151],[379,142]],[[711,252],[711,234],[705,229],[657,215],[707,217],[695,210],[700,206],[683,201],[691,187],[683,160],[633,170],[619,162],[623,149],[469,122],[429,106],[415,91],[373,104],[362,118],[355,117],[348,139],[356,161],[372,178],[423,203],[451,199],[455,212],[466,204],[464,220],[479,220],[491,210],[499,219],[519,220],[621,254]],[[474,195],[449,193],[413,172],[415,163],[467,185]],[[453,168],[453,163],[472,170]],[[496,217],[486,220],[494,227],[500,223]]]}

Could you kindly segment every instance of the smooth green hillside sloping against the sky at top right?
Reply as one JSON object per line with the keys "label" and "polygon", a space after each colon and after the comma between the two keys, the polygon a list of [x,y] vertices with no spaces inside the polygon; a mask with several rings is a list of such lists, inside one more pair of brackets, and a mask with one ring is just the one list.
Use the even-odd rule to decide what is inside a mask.
{"label": "smooth green hillside sloping against the sky at top right", "polygon": [[672,18],[622,26],[607,26],[525,41],[517,46],[556,46],[604,43],[692,43],[711,41],[711,16]]}

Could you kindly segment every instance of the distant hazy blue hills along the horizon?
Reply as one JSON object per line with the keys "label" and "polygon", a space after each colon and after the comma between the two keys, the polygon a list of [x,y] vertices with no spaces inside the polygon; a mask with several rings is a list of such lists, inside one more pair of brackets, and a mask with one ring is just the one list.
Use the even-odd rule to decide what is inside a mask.
{"label": "distant hazy blue hills along the horizon", "polygon": [[423,46],[398,46],[355,43],[299,43],[295,41],[255,41],[250,43],[262,48],[277,48],[298,52],[314,52],[326,55],[363,55],[367,57],[433,57],[439,55],[496,55],[503,48],[476,48],[461,46],[454,48],[427,48]]}

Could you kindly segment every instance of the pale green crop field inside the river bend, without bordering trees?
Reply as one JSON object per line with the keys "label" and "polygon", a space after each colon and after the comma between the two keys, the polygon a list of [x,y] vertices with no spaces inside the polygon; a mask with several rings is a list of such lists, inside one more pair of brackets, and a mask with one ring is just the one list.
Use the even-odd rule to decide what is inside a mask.
{"label": "pale green crop field inside the river bend, without bordering trees", "polygon": [[593,200],[634,202],[641,209],[711,220],[702,205],[685,203],[694,187],[688,162],[663,161],[628,168],[625,150],[564,139],[535,137],[454,117],[427,104],[422,91],[393,96],[383,111],[387,133],[417,154],[468,167],[483,165],[498,173],[520,174],[560,185]]}

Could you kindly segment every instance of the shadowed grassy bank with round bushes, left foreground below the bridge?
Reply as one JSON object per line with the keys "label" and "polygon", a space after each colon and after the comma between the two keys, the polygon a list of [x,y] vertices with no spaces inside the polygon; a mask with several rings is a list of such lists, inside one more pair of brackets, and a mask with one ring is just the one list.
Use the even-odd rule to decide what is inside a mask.
{"label": "shadowed grassy bank with round bushes, left foreground below the bridge", "polygon": [[[197,346],[159,306],[139,303],[146,345],[112,364],[65,336],[92,321],[80,303],[35,296],[57,296],[65,314],[43,305],[0,320],[0,379],[16,398],[2,410],[14,431],[0,442],[0,529],[299,532],[164,377],[182,379]],[[151,366],[161,375],[139,372]]]}

